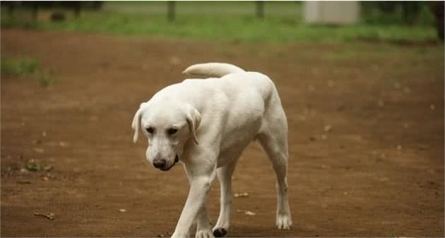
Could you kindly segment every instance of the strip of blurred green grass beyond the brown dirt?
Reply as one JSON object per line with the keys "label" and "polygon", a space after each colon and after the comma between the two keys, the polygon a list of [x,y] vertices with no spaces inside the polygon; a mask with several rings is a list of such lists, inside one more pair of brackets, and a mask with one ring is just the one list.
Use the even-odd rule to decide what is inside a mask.
{"label": "strip of blurred green grass beyond the brown dirt", "polygon": [[[193,10],[196,8],[194,3],[179,2],[177,16],[173,23],[167,22],[165,4],[165,2],[142,2],[122,5],[121,2],[112,2],[104,6],[105,11],[83,11],[79,18],[68,18],[61,23],[53,23],[49,20],[37,22],[19,20],[19,18],[10,18],[4,13],[1,27],[247,43],[354,40],[438,42],[435,29],[432,25],[425,24],[414,26],[377,23],[346,26],[305,25],[302,23],[301,4],[295,2],[266,3],[263,19],[254,16],[252,2],[241,4],[206,2],[197,10]],[[117,12],[116,8],[121,8],[121,11]]]}

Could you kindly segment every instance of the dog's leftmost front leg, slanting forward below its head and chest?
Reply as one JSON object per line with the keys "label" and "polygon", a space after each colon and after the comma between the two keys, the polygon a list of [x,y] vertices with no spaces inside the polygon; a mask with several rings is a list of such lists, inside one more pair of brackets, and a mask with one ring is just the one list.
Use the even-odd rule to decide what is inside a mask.
{"label": "dog's leftmost front leg, slanting forward below its head and chest", "polygon": [[193,222],[198,218],[198,215],[204,215],[202,213],[203,209],[204,211],[206,209],[206,197],[215,178],[215,172],[198,176],[189,172],[187,174],[189,174],[190,179],[189,196],[172,237],[189,237],[190,227]]}

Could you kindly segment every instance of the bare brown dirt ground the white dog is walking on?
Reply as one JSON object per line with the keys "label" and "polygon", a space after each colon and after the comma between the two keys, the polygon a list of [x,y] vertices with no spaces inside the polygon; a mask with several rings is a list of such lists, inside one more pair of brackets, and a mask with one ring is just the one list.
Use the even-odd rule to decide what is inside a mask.
{"label": "bare brown dirt ground the white dog is walking on", "polygon": [[[146,163],[146,142],[132,143],[131,120],[140,102],[206,61],[270,76],[290,127],[292,230],[275,229],[275,178],[252,143],[233,184],[249,196],[234,198],[228,236],[444,236],[443,46],[215,44],[2,29],[1,56],[35,57],[58,79],[45,88],[33,75],[1,78],[2,237],[171,234],[186,176],[178,165],[160,172]],[[32,159],[52,169],[23,169]],[[215,182],[213,222],[218,200]]]}

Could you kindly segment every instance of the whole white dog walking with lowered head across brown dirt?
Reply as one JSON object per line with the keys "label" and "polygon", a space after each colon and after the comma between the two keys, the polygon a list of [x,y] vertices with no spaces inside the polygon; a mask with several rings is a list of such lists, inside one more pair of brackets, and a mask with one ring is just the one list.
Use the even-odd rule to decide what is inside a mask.
{"label": "whole white dog walking with lowered head across brown dirt", "polygon": [[[195,64],[184,73],[216,77],[187,79],[163,88],[134,115],[133,141],[141,129],[148,138],[150,164],[167,171],[179,160],[190,191],[172,237],[223,237],[230,227],[232,172],[239,155],[258,140],[270,158],[277,179],[278,229],[290,229],[287,197],[287,121],[275,85],[268,76],[223,63]],[[210,226],[206,197],[218,176],[220,215]]]}

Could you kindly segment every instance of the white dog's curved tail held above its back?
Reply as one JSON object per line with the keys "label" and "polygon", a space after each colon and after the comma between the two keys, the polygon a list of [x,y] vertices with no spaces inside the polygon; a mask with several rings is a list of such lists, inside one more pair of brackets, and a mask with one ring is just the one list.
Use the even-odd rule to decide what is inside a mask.
{"label": "white dog's curved tail held above its back", "polygon": [[189,66],[182,73],[188,76],[223,77],[229,73],[245,72],[243,69],[226,63],[205,63]]}

